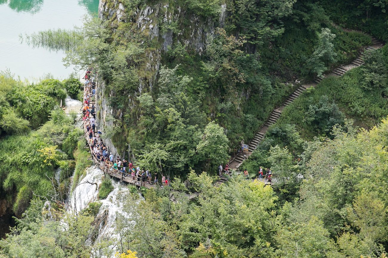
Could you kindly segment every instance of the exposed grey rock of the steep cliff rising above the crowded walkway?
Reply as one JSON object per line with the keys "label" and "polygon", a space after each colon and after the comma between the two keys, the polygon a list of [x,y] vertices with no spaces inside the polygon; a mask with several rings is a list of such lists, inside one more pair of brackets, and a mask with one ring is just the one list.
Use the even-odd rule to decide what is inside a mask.
{"label": "exposed grey rock of the steep cliff rising above the crowded walkway", "polygon": [[[140,1],[137,6],[128,6],[128,2],[122,0],[100,0],[99,3],[99,17],[109,21],[113,32],[120,23],[125,23],[130,33],[145,38],[141,42],[145,46],[145,54],[139,70],[146,76],[140,76],[137,91],[128,96],[131,109],[136,106],[133,96],[138,96],[142,92],[154,91],[163,55],[174,43],[180,42],[187,50],[196,51],[201,55],[206,49],[208,36],[214,33],[216,27],[222,27],[225,24],[225,4],[222,5],[219,19],[204,19],[187,10],[185,6],[154,2],[154,5],[149,5]],[[152,42],[152,47],[147,47],[146,44],[149,42]],[[116,112],[111,109],[104,96],[109,96],[109,91],[106,90],[104,82],[100,82],[96,102],[97,122],[103,131],[113,126],[110,118],[120,113],[120,111]],[[113,142],[106,140],[106,144],[117,153]],[[121,152],[124,150],[123,146],[118,149]]]}

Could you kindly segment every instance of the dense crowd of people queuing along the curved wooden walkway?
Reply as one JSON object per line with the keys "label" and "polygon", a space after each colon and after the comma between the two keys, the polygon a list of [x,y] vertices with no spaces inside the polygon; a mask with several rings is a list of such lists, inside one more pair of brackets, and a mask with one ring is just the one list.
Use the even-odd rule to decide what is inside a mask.
{"label": "dense crowd of people queuing along the curved wooden walkway", "polygon": [[[103,139],[101,138],[102,132],[100,130],[95,131],[95,106],[90,104],[93,99],[95,99],[96,92],[96,82],[95,74],[92,72],[92,68],[88,68],[85,73],[85,84],[84,84],[84,97],[83,97],[83,108],[82,108],[82,120],[86,128],[86,132],[89,137],[89,145],[95,154],[95,158],[104,163],[104,167],[110,171],[116,170],[121,173],[121,180],[128,177],[138,183],[135,183],[137,186],[145,186],[145,184],[156,185],[158,184],[159,178],[158,173],[153,173],[147,169],[140,169],[140,165],[135,165],[131,161],[126,161],[124,158],[121,159],[120,156],[114,158],[113,153],[109,150],[109,147],[104,144]],[[153,180],[152,180],[153,179]],[[161,179],[162,185],[170,185],[170,177],[162,176]]]}

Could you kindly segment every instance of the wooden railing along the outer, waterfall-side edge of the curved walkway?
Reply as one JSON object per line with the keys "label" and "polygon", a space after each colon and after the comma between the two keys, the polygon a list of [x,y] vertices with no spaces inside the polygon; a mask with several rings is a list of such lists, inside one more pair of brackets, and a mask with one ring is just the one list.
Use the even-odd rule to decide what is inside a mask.
{"label": "wooden railing along the outer, waterfall-side edge of the curved walkway", "polygon": [[[96,84],[95,84],[95,88],[97,89],[97,79],[96,79]],[[83,88],[83,100],[82,100],[82,108],[83,109],[83,102],[84,102],[84,99],[85,99],[85,96],[87,96],[87,92],[86,92],[86,89],[87,87],[84,87]],[[94,101],[90,101],[90,104],[95,104],[95,100]],[[82,120],[82,117],[83,115],[81,116],[81,120]],[[89,113],[89,118],[90,118],[90,113]],[[128,174],[128,173],[121,173],[121,171],[119,171],[118,169],[114,168],[113,166],[111,167],[108,167],[106,162],[103,162],[103,161],[100,161],[99,159],[97,159],[97,155],[94,153],[93,149],[92,149],[92,146],[90,144],[90,139],[89,139],[89,135],[88,135],[88,132],[86,131],[86,124],[85,124],[85,121],[82,120],[82,126],[83,127],[83,132],[85,134],[85,140],[87,142],[87,146],[86,147],[87,149],[89,149],[89,152],[90,152],[90,157],[89,157],[89,160],[93,160],[95,162],[95,164],[97,164],[99,166],[100,169],[102,169],[102,171],[104,171],[104,173],[107,173],[109,174],[110,176],[114,177],[114,178],[117,178],[117,179],[120,179],[120,181],[125,181],[129,184],[132,184],[132,185],[135,185],[135,186],[144,186],[145,188],[148,188],[148,189],[151,189],[151,188],[157,188],[157,187],[163,187],[163,185],[159,184],[159,183],[154,183],[152,181],[149,181],[147,179],[145,179],[143,181],[142,178],[140,177],[136,177],[135,176],[135,180],[132,179],[132,175],[131,174]],[[139,179],[139,181],[137,180]]]}

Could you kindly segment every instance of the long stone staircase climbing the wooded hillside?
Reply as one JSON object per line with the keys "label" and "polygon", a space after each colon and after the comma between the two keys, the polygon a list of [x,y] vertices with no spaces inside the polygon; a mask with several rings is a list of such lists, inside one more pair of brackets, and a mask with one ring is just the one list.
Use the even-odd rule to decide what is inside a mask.
{"label": "long stone staircase climbing the wooded hillside", "polygon": [[291,95],[286,99],[286,101],[283,103],[283,105],[281,107],[279,107],[277,109],[274,109],[270,113],[269,118],[267,119],[267,121],[265,121],[265,123],[262,126],[262,128],[260,128],[260,130],[258,132],[256,132],[256,134],[253,137],[253,139],[249,141],[249,143],[248,143],[248,145],[249,145],[248,150],[249,151],[248,152],[240,151],[239,153],[234,155],[234,157],[232,157],[232,159],[229,162],[229,168],[230,169],[237,169],[237,170],[239,169],[239,167],[241,166],[242,162],[245,159],[248,159],[249,154],[251,152],[253,152],[253,150],[256,149],[256,147],[258,146],[260,141],[263,139],[265,133],[267,132],[268,127],[273,125],[274,123],[276,123],[277,119],[282,114],[283,108],[285,106],[288,106],[289,104],[291,104],[297,97],[300,96],[300,94],[303,91],[305,91],[309,87],[315,87],[315,85],[319,84],[322,81],[322,79],[324,79],[325,77],[328,77],[328,76],[342,76],[348,70],[351,70],[352,68],[355,68],[355,67],[359,67],[360,65],[362,65],[364,63],[363,62],[363,57],[365,55],[365,53],[364,53],[365,51],[367,51],[367,50],[376,50],[378,48],[381,48],[382,46],[384,46],[384,43],[382,41],[380,41],[379,39],[376,39],[376,38],[372,38],[372,45],[366,47],[364,49],[364,51],[362,51],[362,53],[355,60],[353,60],[350,64],[348,64],[348,65],[341,65],[340,67],[335,68],[332,73],[329,73],[328,75],[325,75],[322,78],[320,78],[320,77],[315,78],[314,83],[312,83],[312,84],[301,85],[300,87],[298,87],[293,93],[291,93]]}

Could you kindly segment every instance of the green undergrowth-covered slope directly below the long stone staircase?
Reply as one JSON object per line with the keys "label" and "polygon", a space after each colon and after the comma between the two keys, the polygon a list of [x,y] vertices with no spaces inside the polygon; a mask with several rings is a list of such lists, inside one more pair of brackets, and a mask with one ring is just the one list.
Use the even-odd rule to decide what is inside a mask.
{"label": "green undergrowth-covered slope directly below the long stone staircase", "polygon": [[[258,171],[270,167],[272,148],[287,148],[294,158],[303,157],[314,138],[334,138],[333,126],[370,129],[388,115],[388,47],[367,52],[364,65],[341,77],[322,80],[286,106],[277,122],[240,169]],[[347,120],[346,120],[347,118]]]}

